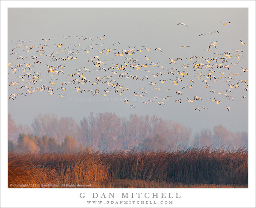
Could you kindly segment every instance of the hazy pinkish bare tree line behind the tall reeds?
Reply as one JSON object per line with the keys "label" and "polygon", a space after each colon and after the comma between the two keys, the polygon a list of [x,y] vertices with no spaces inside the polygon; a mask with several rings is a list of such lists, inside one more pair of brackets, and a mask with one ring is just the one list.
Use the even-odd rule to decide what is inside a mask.
{"label": "hazy pinkish bare tree line behind the tall reeds", "polygon": [[77,152],[120,149],[187,149],[212,146],[248,147],[248,132],[231,132],[222,125],[192,134],[190,127],[158,116],[128,118],[111,112],[93,114],[77,123],[72,117],[39,114],[31,125],[16,124],[8,114],[8,150]]}

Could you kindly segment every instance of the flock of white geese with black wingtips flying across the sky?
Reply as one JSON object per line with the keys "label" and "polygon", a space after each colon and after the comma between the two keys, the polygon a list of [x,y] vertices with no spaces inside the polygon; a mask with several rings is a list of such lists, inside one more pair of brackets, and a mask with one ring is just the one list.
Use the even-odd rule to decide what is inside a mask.
{"label": "flock of white geese with black wingtips flying across the sky", "polygon": [[[221,22],[223,25],[230,24],[230,22]],[[178,23],[177,25],[186,26],[185,23]],[[219,31],[207,32],[204,34],[199,34],[199,36],[207,35],[207,34],[219,34]],[[246,68],[241,67],[240,73],[233,73],[232,67],[239,64],[239,60],[241,60],[244,56],[241,54],[243,50],[234,50],[234,52],[224,51],[222,53],[214,53],[212,55],[214,57],[204,58],[203,56],[191,56],[187,58],[169,58],[169,66],[168,68],[160,65],[159,62],[153,63],[150,61],[151,57],[148,58],[146,53],[150,50],[155,53],[161,53],[161,48],[151,49],[145,48],[145,46],[134,46],[123,49],[121,52],[117,51],[113,47],[116,45],[120,46],[120,42],[115,42],[110,47],[104,48],[104,36],[97,37],[96,41],[92,40],[92,38],[85,36],[75,36],[78,40],[78,43],[67,44],[63,43],[63,40],[68,41],[70,36],[62,36],[60,42],[52,45],[51,48],[54,47],[54,51],[46,54],[46,49],[49,47],[51,40],[49,38],[42,39],[42,44],[39,45],[31,45],[31,41],[18,40],[14,42],[15,47],[12,48],[11,57],[14,60],[19,60],[20,63],[13,65],[10,61],[8,63],[8,79],[11,75],[16,77],[16,80],[9,82],[9,86],[15,87],[17,93],[10,94],[8,99],[14,100],[18,96],[24,97],[29,94],[38,91],[48,91],[49,95],[53,95],[54,92],[57,91],[57,94],[60,97],[64,97],[66,94],[60,94],[61,91],[69,90],[67,88],[68,84],[74,84],[74,90],[77,93],[90,93],[92,96],[107,96],[110,91],[116,93],[118,96],[122,96],[123,94],[127,94],[129,91],[129,86],[124,86],[122,83],[122,79],[132,79],[138,82],[146,83],[145,87],[142,87],[135,92],[132,90],[132,94],[134,96],[143,97],[148,95],[146,92],[147,88],[155,88],[157,90],[161,90],[159,85],[170,82],[168,85],[168,89],[164,89],[164,91],[171,90],[172,95],[182,96],[182,90],[189,90],[192,88],[193,84],[196,82],[201,82],[204,84],[204,88],[209,90],[210,85],[214,85],[214,82],[224,82],[226,84],[226,89],[223,92],[217,92],[212,89],[209,90],[209,93],[212,94],[213,97],[217,95],[224,95],[228,100],[234,101],[234,98],[230,95],[233,90],[236,88],[241,88],[243,85],[244,90],[248,90],[248,80],[240,80],[237,83],[233,82],[233,76],[239,76],[248,72]],[[64,39],[63,39],[64,38]],[[241,46],[246,44],[240,40]],[[49,44],[49,45],[48,45]],[[82,47],[85,45],[86,47]],[[207,52],[217,49],[216,45],[217,41],[209,43],[208,49],[204,49]],[[180,46],[183,48],[190,46]],[[96,52],[96,48],[98,49]],[[104,49],[103,49],[104,48]],[[90,56],[90,53],[94,52],[93,57]],[[138,60],[134,58],[137,54],[143,52],[145,54],[143,60]],[[47,52],[48,53],[48,52]],[[96,53],[96,55],[95,55]],[[78,54],[83,54],[83,58],[78,58]],[[110,59],[108,54],[112,54],[112,56],[119,56],[115,59]],[[121,56],[124,56],[122,59]],[[47,57],[47,64],[44,63]],[[90,57],[90,58],[87,58]],[[236,63],[231,63],[230,59],[236,59]],[[82,59],[85,63],[79,69],[67,69],[65,68],[67,65],[66,62],[72,61],[75,62],[77,59]],[[153,58],[152,58],[153,59]],[[111,60],[111,61],[110,61]],[[114,61],[113,61],[114,60]],[[124,60],[121,62],[121,60]],[[183,64],[182,67],[176,68],[175,64],[177,62],[186,61],[186,64]],[[25,62],[25,63],[24,63]],[[112,63],[115,62],[115,63]],[[121,62],[121,64],[119,64]],[[110,64],[112,63],[112,64]],[[92,68],[88,69],[88,65],[92,64]],[[230,65],[231,64],[231,65]],[[42,69],[42,71],[38,71],[38,69]],[[92,70],[99,73],[98,77],[94,80],[89,80],[87,78],[87,74]],[[154,70],[154,74],[150,71]],[[138,75],[134,75],[136,72],[143,72],[144,76],[139,77]],[[48,74],[50,81],[48,83],[44,83],[44,79],[42,78],[42,74]],[[188,74],[194,73],[194,79],[189,80],[188,86],[184,86],[184,80],[186,80],[186,76]],[[105,76],[103,76],[105,75]],[[62,81],[58,81],[60,76],[65,76],[64,79],[60,79]],[[153,81],[154,78],[159,78],[159,81]],[[118,80],[118,81],[116,81]],[[154,79],[155,80],[155,79]],[[183,82],[182,82],[183,80]],[[85,85],[84,85],[85,84]],[[57,87],[55,87],[57,86]],[[96,86],[96,88],[94,88]],[[104,88],[103,90],[100,88]],[[172,88],[172,89],[171,89]],[[186,88],[186,89],[185,89]],[[175,90],[173,90],[175,89]],[[20,92],[22,90],[22,92]],[[229,93],[229,94],[228,94]],[[216,96],[215,96],[216,95]],[[164,98],[158,98],[157,96],[152,96],[151,100],[145,100],[144,104],[149,103],[157,103],[158,105],[165,105],[164,100],[167,98],[171,98],[171,95],[168,95]],[[242,96],[246,98],[246,96]],[[201,97],[195,95],[193,98],[187,98],[186,102],[198,102],[202,100]],[[128,99],[123,100],[125,104],[129,104],[130,107],[135,108],[135,104],[129,102]],[[173,102],[182,103],[182,98],[174,99]],[[210,102],[214,102],[216,104],[220,104],[221,101],[216,98],[210,98]],[[201,109],[207,109],[207,107],[197,107],[195,110],[200,111]],[[230,107],[226,108],[230,111]]]}

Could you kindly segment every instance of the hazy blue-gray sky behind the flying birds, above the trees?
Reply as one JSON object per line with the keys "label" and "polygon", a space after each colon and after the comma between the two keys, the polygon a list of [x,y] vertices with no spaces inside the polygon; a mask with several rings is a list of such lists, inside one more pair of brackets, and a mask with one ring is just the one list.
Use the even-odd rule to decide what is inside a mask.
{"label": "hazy blue-gray sky behind the flying birds, above the trees", "polygon": [[[223,25],[222,22],[231,22],[230,24]],[[185,22],[184,25],[177,25],[178,23]],[[199,36],[199,34],[204,34],[208,32],[218,31],[219,33],[206,34]],[[102,37],[104,34],[106,36],[99,40],[95,36]],[[63,36],[71,36],[65,39]],[[84,38],[78,39],[75,36],[90,37],[91,40],[83,40]],[[43,38],[50,38],[47,42],[42,40]],[[39,48],[33,48],[29,53],[24,52],[26,47],[24,45],[21,48],[14,49],[13,52],[17,52],[20,56],[26,56],[32,58],[31,56],[38,56],[38,60],[41,60],[41,64],[34,64],[35,60],[22,60],[16,59],[17,54],[12,54],[12,49],[17,47],[13,41],[26,40],[27,46],[39,46],[39,44],[48,44],[45,46],[45,54],[38,56],[40,53],[36,53]],[[246,42],[245,45],[241,45],[240,40]],[[211,42],[218,41],[216,44],[216,49],[211,46],[211,50],[207,52],[204,49],[208,49]],[[80,42],[80,46],[77,46]],[[92,45],[94,50],[90,50],[90,53],[86,53],[85,48],[91,43],[104,43],[103,46]],[[120,44],[113,44],[115,42],[120,42]],[[18,42],[21,44],[22,42]],[[57,46],[54,44],[63,43],[63,47],[60,49],[67,48],[71,44],[76,44],[76,46],[71,46],[69,49],[64,50],[64,52],[72,49],[82,49],[77,55],[72,55],[77,57],[76,60],[65,62],[58,60],[53,61],[51,57],[44,56],[51,54],[52,52],[59,52],[60,56],[64,57],[64,52],[60,52]],[[134,54],[132,56],[124,55],[114,56],[114,53],[122,52],[122,50],[128,50],[128,46],[133,48],[134,46],[145,46],[146,48],[151,48],[150,51],[138,52],[139,49],[136,47],[134,49]],[[180,46],[190,46],[182,48]],[[117,50],[112,50],[109,54],[99,54],[97,50],[113,48]],[[144,47],[142,47],[144,48]],[[154,50],[155,48],[161,48],[162,52],[159,50]],[[236,50],[243,50],[243,52],[236,52]],[[222,55],[216,55],[214,53],[222,54],[224,51],[230,51],[232,57],[228,59],[228,63],[223,63],[222,66],[228,64],[230,69],[227,68],[217,68],[213,66],[212,68],[206,68],[206,59],[214,57],[224,57]],[[242,54],[240,60],[234,57],[236,54]],[[143,78],[148,76],[148,80],[133,80],[132,78],[119,78],[118,76],[125,71],[117,71],[116,75],[108,70],[96,71],[96,68],[92,62],[88,63],[88,60],[94,58],[98,55],[100,60],[106,65],[101,65],[102,67],[108,69],[108,67],[114,64],[125,65],[124,62],[128,62],[125,57],[138,59],[138,64],[146,64],[146,68],[140,68],[134,70],[130,68],[130,64],[126,68],[128,75],[137,75],[138,78]],[[144,56],[150,58],[146,60]],[[203,56],[204,58],[194,58],[189,60],[191,56]],[[170,60],[168,58],[176,59],[182,57],[182,60],[177,60],[177,64],[169,64]],[[106,59],[114,59],[107,61]],[[52,62],[51,62],[52,60]],[[96,60],[96,59],[94,59]],[[106,61],[105,61],[106,60]],[[193,64],[204,63],[204,67],[201,70],[194,71]],[[9,8],[8,9],[8,62],[12,64],[10,66],[15,67],[17,64],[32,64],[32,72],[40,72],[40,78],[42,81],[38,81],[36,85],[30,84],[29,86],[40,87],[40,84],[45,84],[47,86],[52,86],[54,88],[54,95],[49,95],[48,90],[42,92],[36,91],[27,96],[18,96],[16,99],[8,100],[8,112],[12,114],[16,122],[22,122],[25,124],[30,124],[34,117],[38,114],[45,113],[55,113],[58,116],[72,116],[74,119],[79,121],[83,116],[87,116],[90,112],[115,112],[119,116],[128,116],[130,114],[136,113],[139,115],[157,115],[164,119],[175,120],[181,122],[187,126],[193,128],[197,131],[202,128],[212,129],[214,125],[223,124],[230,130],[247,130],[248,129],[248,91],[244,90],[247,83],[241,83],[239,80],[248,80],[248,72],[243,73],[242,68],[248,69],[248,9],[247,8]],[[157,63],[156,66],[149,65],[151,62]],[[222,60],[218,59],[218,64],[221,64]],[[233,66],[231,63],[237,63]],[[49,76],[47,73],[47,66],[65,66],[63,70],[64,74],[56,74],[54,76]],[[188,68],[183,68],[183,64],[190,64]],[[215,61],[210,63],[217,64]],[[164,70],[161,67],[163,66]],[[74,78],[68,79],[68,74],[77,72],[76,69],[84,67],[90,69],[90,72],[84,71],[84,76],[86,79],[90,80],[91,83],[86,84],[67,84],[64,86],[67,88],[65,92],[57,90],[61,87],[61,83],[64,81],[72,81],[74,78],[78,78],[77,75]],[[172,70],[172,74],[167,74],[168,69],[177,68],[178,70]],[[150,69],[150,72],[148,70]],[[208,70],[214,70],[212,76],[216,76],[217,82],[213,79],[207,78],[207,84],[209,87],[205,88],[206,83],[202,80],[206,80],[206,75]],[[188,72],[188,75],[182,77],[176,72],[181,71]],[[8,68],[8,72],[12,71]],[[23,76],[25,73],[30,72],[26,69],[26,72],[17,71],[17,74],[10,73],[8,75],[8,84],[10,82],[19,82],[17,85],[8,86],[8,95],[12,93],[23,93],[26,94],[26,90],[17,90],[23,85],[27,85],[30,79],[26,78],[22,82],[18,76]],[[152,74],[157,72],[162,72],[162,76],[159,75],[156,78]],[[202,80],[197,80],[196,77],[202,72]],[[219,72],[225,72],[221,75]],[[239,73],[239,75],[231,76],[230,78],[224,78],[224,76],[230,76],[233,73]],[[103,80],[104,76],[113,76],[110,79]],[[127,76],[127,75],[126,75]],[[195,77],[196,76],[196,77]],[[218,79],[222,76],[223,79]],[[115,93],[114,89],[108,92],[107,96],[102,96],[104,90],[108,88],[106,84],[96,84],[92,86],[96,77],[100,77],[103,81],[110,81],[112,79],[116,80],[120,86],[129,88],[125,90],[122,96],[118,96],[119,93]],[[182,82],[178,85],[174,85],[172,82],[177,77],[182,78]],[[51,85],[49,83],[50,79],[58,79],[56,85]],[[163,84],[159,80],[168,80]],[[190,80],[194,80],[194,83],[189,83]],[[229,82],[225,83],[226,80],[230,80],[232,84],[239,82],[238,88],[231,88],[232,92],[226,92],[229,89]],[[160,87],[160,90],[152,88],[150,81],[157,82],[154,87]],[[26,83],[27,82],[27,83]],[[192,88],[184,88],[184,86],[190,86]],[[86,92],[77,93],[74,86],[85,89]],[[145,90],[141,88],[145,87]],[[97,96],[92,96],[87,90],[99,88],[100,93]],[[169,89],[164,91],[165,89]],[[182,91],[182,95],[177,95],[176,92]],[[210,90],[215,90],[213,94]],[[138,94],[142,94],[143,91],[148,92],[147,95],[140,98],[139,96],[134,96],[134,91]],[[221,92],[220,95],[217,92]],[[228,100],[223,94],[227,93],[234,98]],[[63,98],[59,94],[66,94]],[[198,95],[202,98],[200,101],[194,100],[194,102],[186,102],[187,98],[193,99],[194,96]],[[154,96],[158,97],[158,100],[154,99]],[[172,96],[167,100],[162,100],[166,96]],[[242,98],[246,96],[246,98]],[[182,103],[174,102],[176,99],[180,99]],[[210,98],[215,98],[220,100],[220,104],[216,102],[211,102]],[[123,102],[124,99],[129,100],[129,104]],[[153,103],[143,104],[144,101],[154,100]],[[164,102],[165,105],[158,105],[157,102]],[[134,104],[135,108],[130,107],[130,104]],[[195,108],[200,107],[200,112],[195,110]],[[208,109],[202,109],[202,107],[207,107]],[[230,107],[230,112],[226,109]]]}

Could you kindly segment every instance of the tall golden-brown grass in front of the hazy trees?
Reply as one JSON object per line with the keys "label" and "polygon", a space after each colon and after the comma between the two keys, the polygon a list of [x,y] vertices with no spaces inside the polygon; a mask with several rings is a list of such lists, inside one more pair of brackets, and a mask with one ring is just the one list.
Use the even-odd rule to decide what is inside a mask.
{"label": "tall golden-brown grass in front of the hazy trees", "polygon": [[108,188],[122,187],[120,181],[134,180],[185,187],[191,184],[247,186],[248,150],[208,147],[177,151],[8,154],[8,185],[92,183],[94,188]]}

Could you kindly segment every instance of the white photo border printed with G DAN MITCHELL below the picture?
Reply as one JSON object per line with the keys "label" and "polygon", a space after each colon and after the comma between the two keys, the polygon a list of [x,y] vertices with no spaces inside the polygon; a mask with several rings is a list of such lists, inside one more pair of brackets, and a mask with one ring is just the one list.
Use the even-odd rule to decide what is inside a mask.
{"label": "white photo border printed with G DAN MITCHELL below the picture", "polygon": [[[114,192],[114,200],[123,200],[118,196],[126,193],[178,192],[181,198],[164,199],[173,204],[158,204],[158,207],[255,207],[255,1],[1,1],[1,207],[156,207],[155,204],[106,204],[113,199],[98,199],[105,204],[87,204],[92,192],[99,196]],[[248,188],[74,188],[74,189],[12,189],[8,187],[7,161],[7,28],[8,8],[248,8],[248,40],[249,40],[249,185]],[[186,5],[186,7],[184,7]],[[218,15],[218,14],[216,14]],[[85,198],[80,198],[80,193]],[[143,199],[129,199],[139,200]],[[163,199],[144,199],[144,201]]]}

